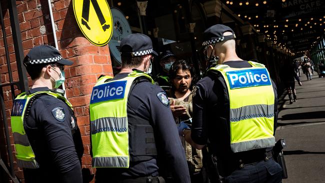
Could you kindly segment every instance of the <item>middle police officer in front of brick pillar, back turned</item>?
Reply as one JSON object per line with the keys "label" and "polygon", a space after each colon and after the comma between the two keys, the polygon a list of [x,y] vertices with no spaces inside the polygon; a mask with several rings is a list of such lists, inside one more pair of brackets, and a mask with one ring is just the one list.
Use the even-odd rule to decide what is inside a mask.
{"label": "middle police officer in front of brick pillar, back turned", "polygon": [[90,98],[95,181],[164,182],[159,159],[172,170],[175,182],[189,182],[169,100],[149,75],[156,54],[151,39],[130,34],[121,40],[120,51],[120,73],[100,77]]}

